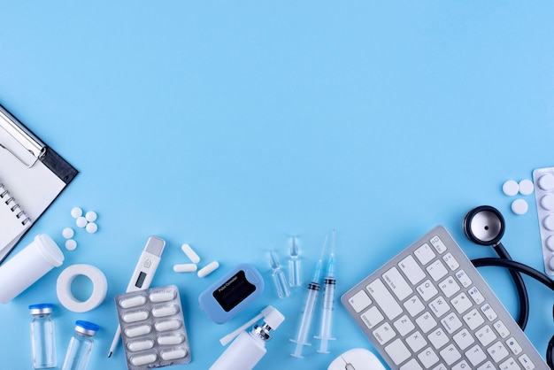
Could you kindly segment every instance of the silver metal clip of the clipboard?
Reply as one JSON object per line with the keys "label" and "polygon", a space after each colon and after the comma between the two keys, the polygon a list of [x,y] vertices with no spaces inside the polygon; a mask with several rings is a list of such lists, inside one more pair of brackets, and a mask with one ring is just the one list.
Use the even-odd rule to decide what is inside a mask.
{"label": "silver metal clip of the clipboard", "polygon": [[35,135],[27,130],[18,119],[12,116],[10,112],[6,111],[2,105],[0,105],[0,127],[3,127],[4,130],[12,137],[17,140],[25,149],[27,149],[33,157],[35,158],[33,163],[28,164],[23,158],[20,158],[14,151],[10,150],[3,143],[0,143],[0,148],[8,150],[13,157],[17,158],[19,162],[31,168],[35,165],[36,161],[44,156],[46,153],[46,145],[40,141]]}

